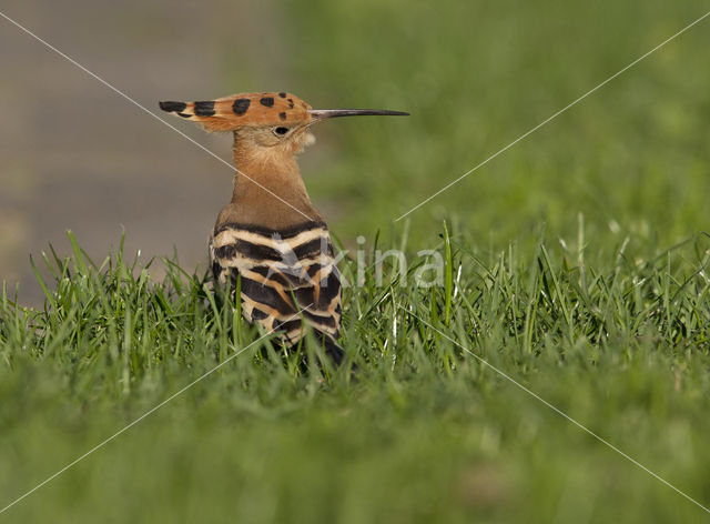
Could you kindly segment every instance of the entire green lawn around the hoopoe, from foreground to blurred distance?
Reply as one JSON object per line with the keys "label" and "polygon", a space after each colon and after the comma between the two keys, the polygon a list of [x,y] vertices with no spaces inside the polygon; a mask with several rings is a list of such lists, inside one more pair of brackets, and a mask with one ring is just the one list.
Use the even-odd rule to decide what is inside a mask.
{"label": "entire green lawn around the hoopoe, from foreground to blurred distance", "polygon": [[288,90],[412,112],[315,130],[302,167],[331,229],[436,249],[453,273],[377,288],[371,268],[347,290],[353,379],[247,347],[190,268],[92,264],[81,238],[36,259],[44,308],[0,301],[0,508],[247,349],[0,522],[707,517],[466,350],[708,507],[710,22],[393,222],[707,6],[276,7]]}

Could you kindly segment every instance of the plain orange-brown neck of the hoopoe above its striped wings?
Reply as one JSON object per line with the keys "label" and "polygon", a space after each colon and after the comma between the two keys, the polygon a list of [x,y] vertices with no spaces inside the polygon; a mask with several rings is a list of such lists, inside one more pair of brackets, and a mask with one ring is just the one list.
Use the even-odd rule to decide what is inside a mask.
{"label": "plain orange-brown neck of the hoopoe above its striped wings", "polygon": [[235,133],[232,202],[217,225],[236,222],[282,230],[304,222],[323,222],[311,203],[291,148],[260,148]]}

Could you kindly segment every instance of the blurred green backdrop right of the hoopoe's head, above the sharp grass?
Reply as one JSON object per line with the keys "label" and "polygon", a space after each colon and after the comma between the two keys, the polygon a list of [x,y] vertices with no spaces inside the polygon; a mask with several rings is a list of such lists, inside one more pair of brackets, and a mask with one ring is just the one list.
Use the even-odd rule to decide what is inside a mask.
{"label": "blurred green backdrop right of the hoopoe's head, above the sharp grass", "polygon": [[[386,229],[701,7],[321,2],[291,37],[300,91],[413,117],[334,122],[338,151],[318,165],[314,192],[336,200],[341,231]],[[450,219],[474,245],[526,243],[542,223],[569,238],[578,212],[599,244],[626,234],[673,243],[707,229],[709,72],[698,52],[707,39],[706,27],[691,30],[414,212],[412,236],[430,242]]]}

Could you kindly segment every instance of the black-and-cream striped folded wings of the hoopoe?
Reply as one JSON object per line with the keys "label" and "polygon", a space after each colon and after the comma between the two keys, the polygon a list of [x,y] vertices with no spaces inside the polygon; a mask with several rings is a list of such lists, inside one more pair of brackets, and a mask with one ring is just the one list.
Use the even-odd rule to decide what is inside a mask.
{"label": "black-and-cream striped folded wings of the hoopoe", "polygon": [[326,345],[337,347],[341,279],[324,224],[285,231],[222,225],[210,241],[210,258],[222,285],[235,290],[241,278],[242,311],[248,322],[278,331],[282,340],[295,344],[305,333],[303,318]]}

